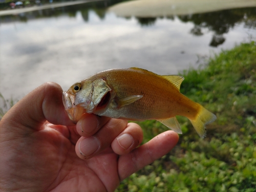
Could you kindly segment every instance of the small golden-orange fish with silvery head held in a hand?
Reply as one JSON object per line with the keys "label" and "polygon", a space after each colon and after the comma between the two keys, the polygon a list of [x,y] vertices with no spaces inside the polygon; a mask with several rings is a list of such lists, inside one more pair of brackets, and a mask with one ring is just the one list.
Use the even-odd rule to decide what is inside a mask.
{"label": "small golden-orange fish with silvery head held in a hand", "polygon": [[180,75],[158,75],[140,68],[110,69],[74,83],[63,91],[69,118],[77,123],[84,113],[116,119],[155,119],[182,134],[177,115],[190,120],[201,138],[216,116],[180,93]]}

